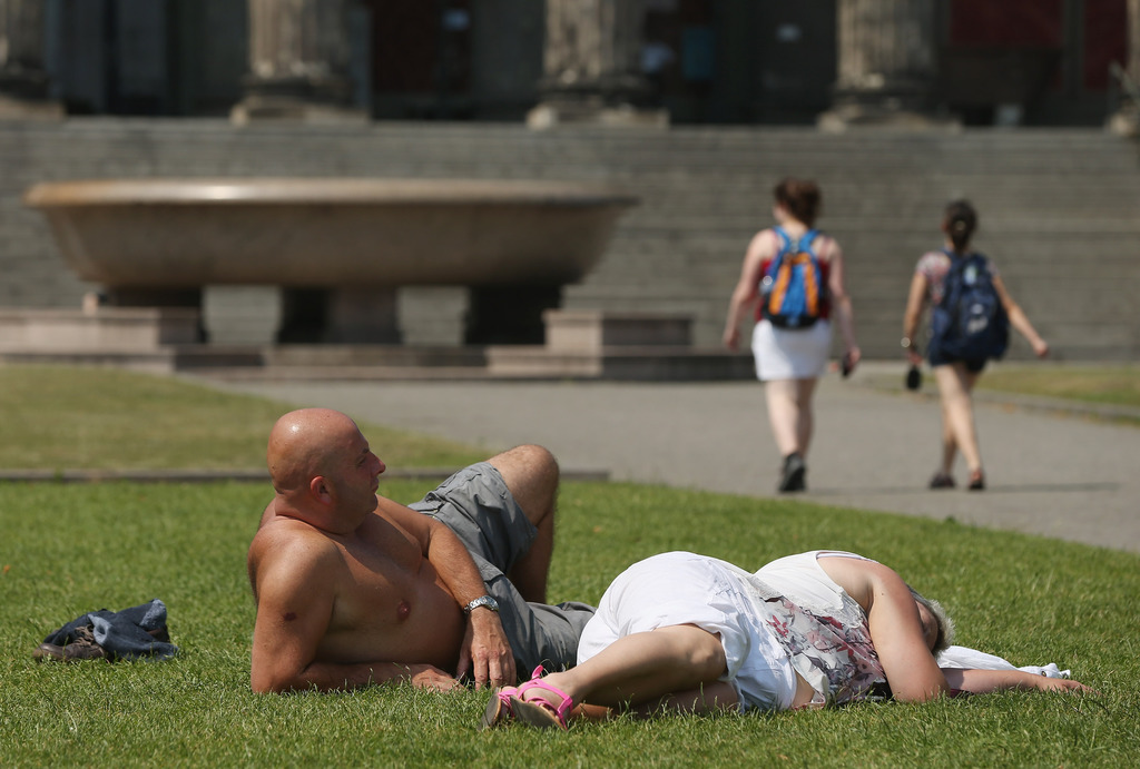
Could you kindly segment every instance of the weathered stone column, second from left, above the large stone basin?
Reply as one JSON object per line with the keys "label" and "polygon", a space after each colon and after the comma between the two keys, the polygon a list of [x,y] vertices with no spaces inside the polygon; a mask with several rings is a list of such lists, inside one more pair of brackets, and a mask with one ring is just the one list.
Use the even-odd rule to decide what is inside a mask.
{"label": "weathered stone column, second from left, above the large stone basin", "polygon": [[231,120],[364,120],[350,105],[350,0],[249,0],[250,72]]}

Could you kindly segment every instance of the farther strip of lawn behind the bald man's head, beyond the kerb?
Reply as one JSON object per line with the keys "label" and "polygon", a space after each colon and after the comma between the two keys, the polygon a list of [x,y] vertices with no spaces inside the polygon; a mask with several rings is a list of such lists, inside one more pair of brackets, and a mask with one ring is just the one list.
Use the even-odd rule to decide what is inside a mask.
{"label": "farther strip of lawn behind the bald man's head, beyond the kerb", "polygon": [[[0,468],[262,469],[269,428],[285,410],[117,369],[0,366]],[[487,457],[459,443],[359,424],[393,468],[464,467]]]}

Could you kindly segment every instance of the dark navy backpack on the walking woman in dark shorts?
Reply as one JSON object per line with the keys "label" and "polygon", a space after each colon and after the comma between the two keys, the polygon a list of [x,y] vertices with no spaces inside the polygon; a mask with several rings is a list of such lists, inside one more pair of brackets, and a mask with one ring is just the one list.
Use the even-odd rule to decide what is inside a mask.
{"label": "dark navy backpack on the walking woman in dark shorts", "polygon": [[1009,344],[1009,317],[994,288],[986,257],[951,259],[942,301],[930,313],[930,357],[942,360],[1001,358]]}

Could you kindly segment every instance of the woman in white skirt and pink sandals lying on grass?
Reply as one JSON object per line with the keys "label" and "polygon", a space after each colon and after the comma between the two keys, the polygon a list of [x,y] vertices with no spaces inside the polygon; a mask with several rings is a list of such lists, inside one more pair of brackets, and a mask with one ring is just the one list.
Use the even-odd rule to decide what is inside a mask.
{"label": "woman in white skirt and pink sandals lying on grass", "polygon": [[482,727],[508,718],[821,707],[889,693],[903,702],[1000,689],[1089,690],[1019,670],[938,666],[953,628],[880,563],[820,550],[755,574],[692,553],[634,564],[583,632],[578,666],[497,689]]}

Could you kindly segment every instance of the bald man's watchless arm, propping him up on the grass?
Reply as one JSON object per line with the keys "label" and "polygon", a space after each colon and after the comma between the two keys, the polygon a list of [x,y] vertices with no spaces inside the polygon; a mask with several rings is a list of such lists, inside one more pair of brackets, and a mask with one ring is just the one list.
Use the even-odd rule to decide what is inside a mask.
{"label": "bald man's watchless arm, propping him up on the grass", "polygon": [[250,670],[254,692],[327,692],[397,679],[441,690],[458,686],[449,674],[426,664],[315,662],[332,617],[334,594],[328,575],[341,568],[340,554],[311,541],[286,546],[275,540],[261,549],[263,557],[251,574],[258,596]]}

